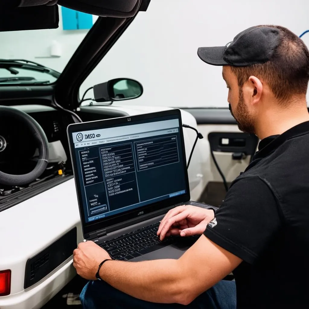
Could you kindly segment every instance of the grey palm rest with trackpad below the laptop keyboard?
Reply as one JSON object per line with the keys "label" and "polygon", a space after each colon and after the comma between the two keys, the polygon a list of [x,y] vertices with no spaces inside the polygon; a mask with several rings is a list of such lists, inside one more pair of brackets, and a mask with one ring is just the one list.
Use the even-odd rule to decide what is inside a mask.
{"label": "grey palm rest with trackpad below the laptop keyboard", "polygon": [[[196,240],[196,239],[195,239]],[[178,243],[160,248],[158,250],[138,256],[130,262],[145,261],[145,260],[159,260],[159,259],[178,259],[193,245],[194,241],[180,241]]]}

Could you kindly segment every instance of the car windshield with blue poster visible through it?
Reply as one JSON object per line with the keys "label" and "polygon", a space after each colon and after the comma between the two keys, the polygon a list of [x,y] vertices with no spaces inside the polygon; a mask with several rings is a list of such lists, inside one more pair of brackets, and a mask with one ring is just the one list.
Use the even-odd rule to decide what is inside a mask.
{"label": "car windshield with blue poster visible through it", "polygon": [[59,6],[57,29],[0,32],[0,86],[54,83],[96,19]]}

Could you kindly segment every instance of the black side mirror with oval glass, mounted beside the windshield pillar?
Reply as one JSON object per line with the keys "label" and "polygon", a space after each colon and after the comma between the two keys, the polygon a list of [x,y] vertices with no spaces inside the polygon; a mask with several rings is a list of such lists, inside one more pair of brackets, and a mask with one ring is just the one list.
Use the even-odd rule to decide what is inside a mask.
{"label": "black side mirror with oval glass, mounted beside the windshield pillar", "polygon": [[115,78],[93,86],[93,94],[96,102],[130,100],[143,94],[143,86],[134,79]]}

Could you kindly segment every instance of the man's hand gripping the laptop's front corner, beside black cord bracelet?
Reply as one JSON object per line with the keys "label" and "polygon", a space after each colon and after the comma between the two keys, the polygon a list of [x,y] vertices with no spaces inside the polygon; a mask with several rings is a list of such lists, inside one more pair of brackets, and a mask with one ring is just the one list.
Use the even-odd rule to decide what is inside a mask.
{"label": "man's hand gripping the laptop's front corner, beside black cord bracelet", "polygon": [[79,243],[77,249],[73,251],[73,266],[78,275],[88,280],[96,280],[95,274],[105,259],[111,257],[93,241]]}

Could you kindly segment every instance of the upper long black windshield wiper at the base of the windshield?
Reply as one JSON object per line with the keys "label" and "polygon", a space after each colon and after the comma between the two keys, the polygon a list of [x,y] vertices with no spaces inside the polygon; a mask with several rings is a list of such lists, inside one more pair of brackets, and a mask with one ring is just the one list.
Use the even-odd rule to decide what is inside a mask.
{"label": "upper long black windshield wiper at the base of the windshield", "polygon": [[24,59],[0,59],[0,68],[8,70],[12,74],[17,74],[18,72],[16,73],[16,71],[12,71],[12,68],[14,67],[29,71],[46,73],[53,76],[54,78],[58,78],[60,76],[59,72],[33,61]]}

